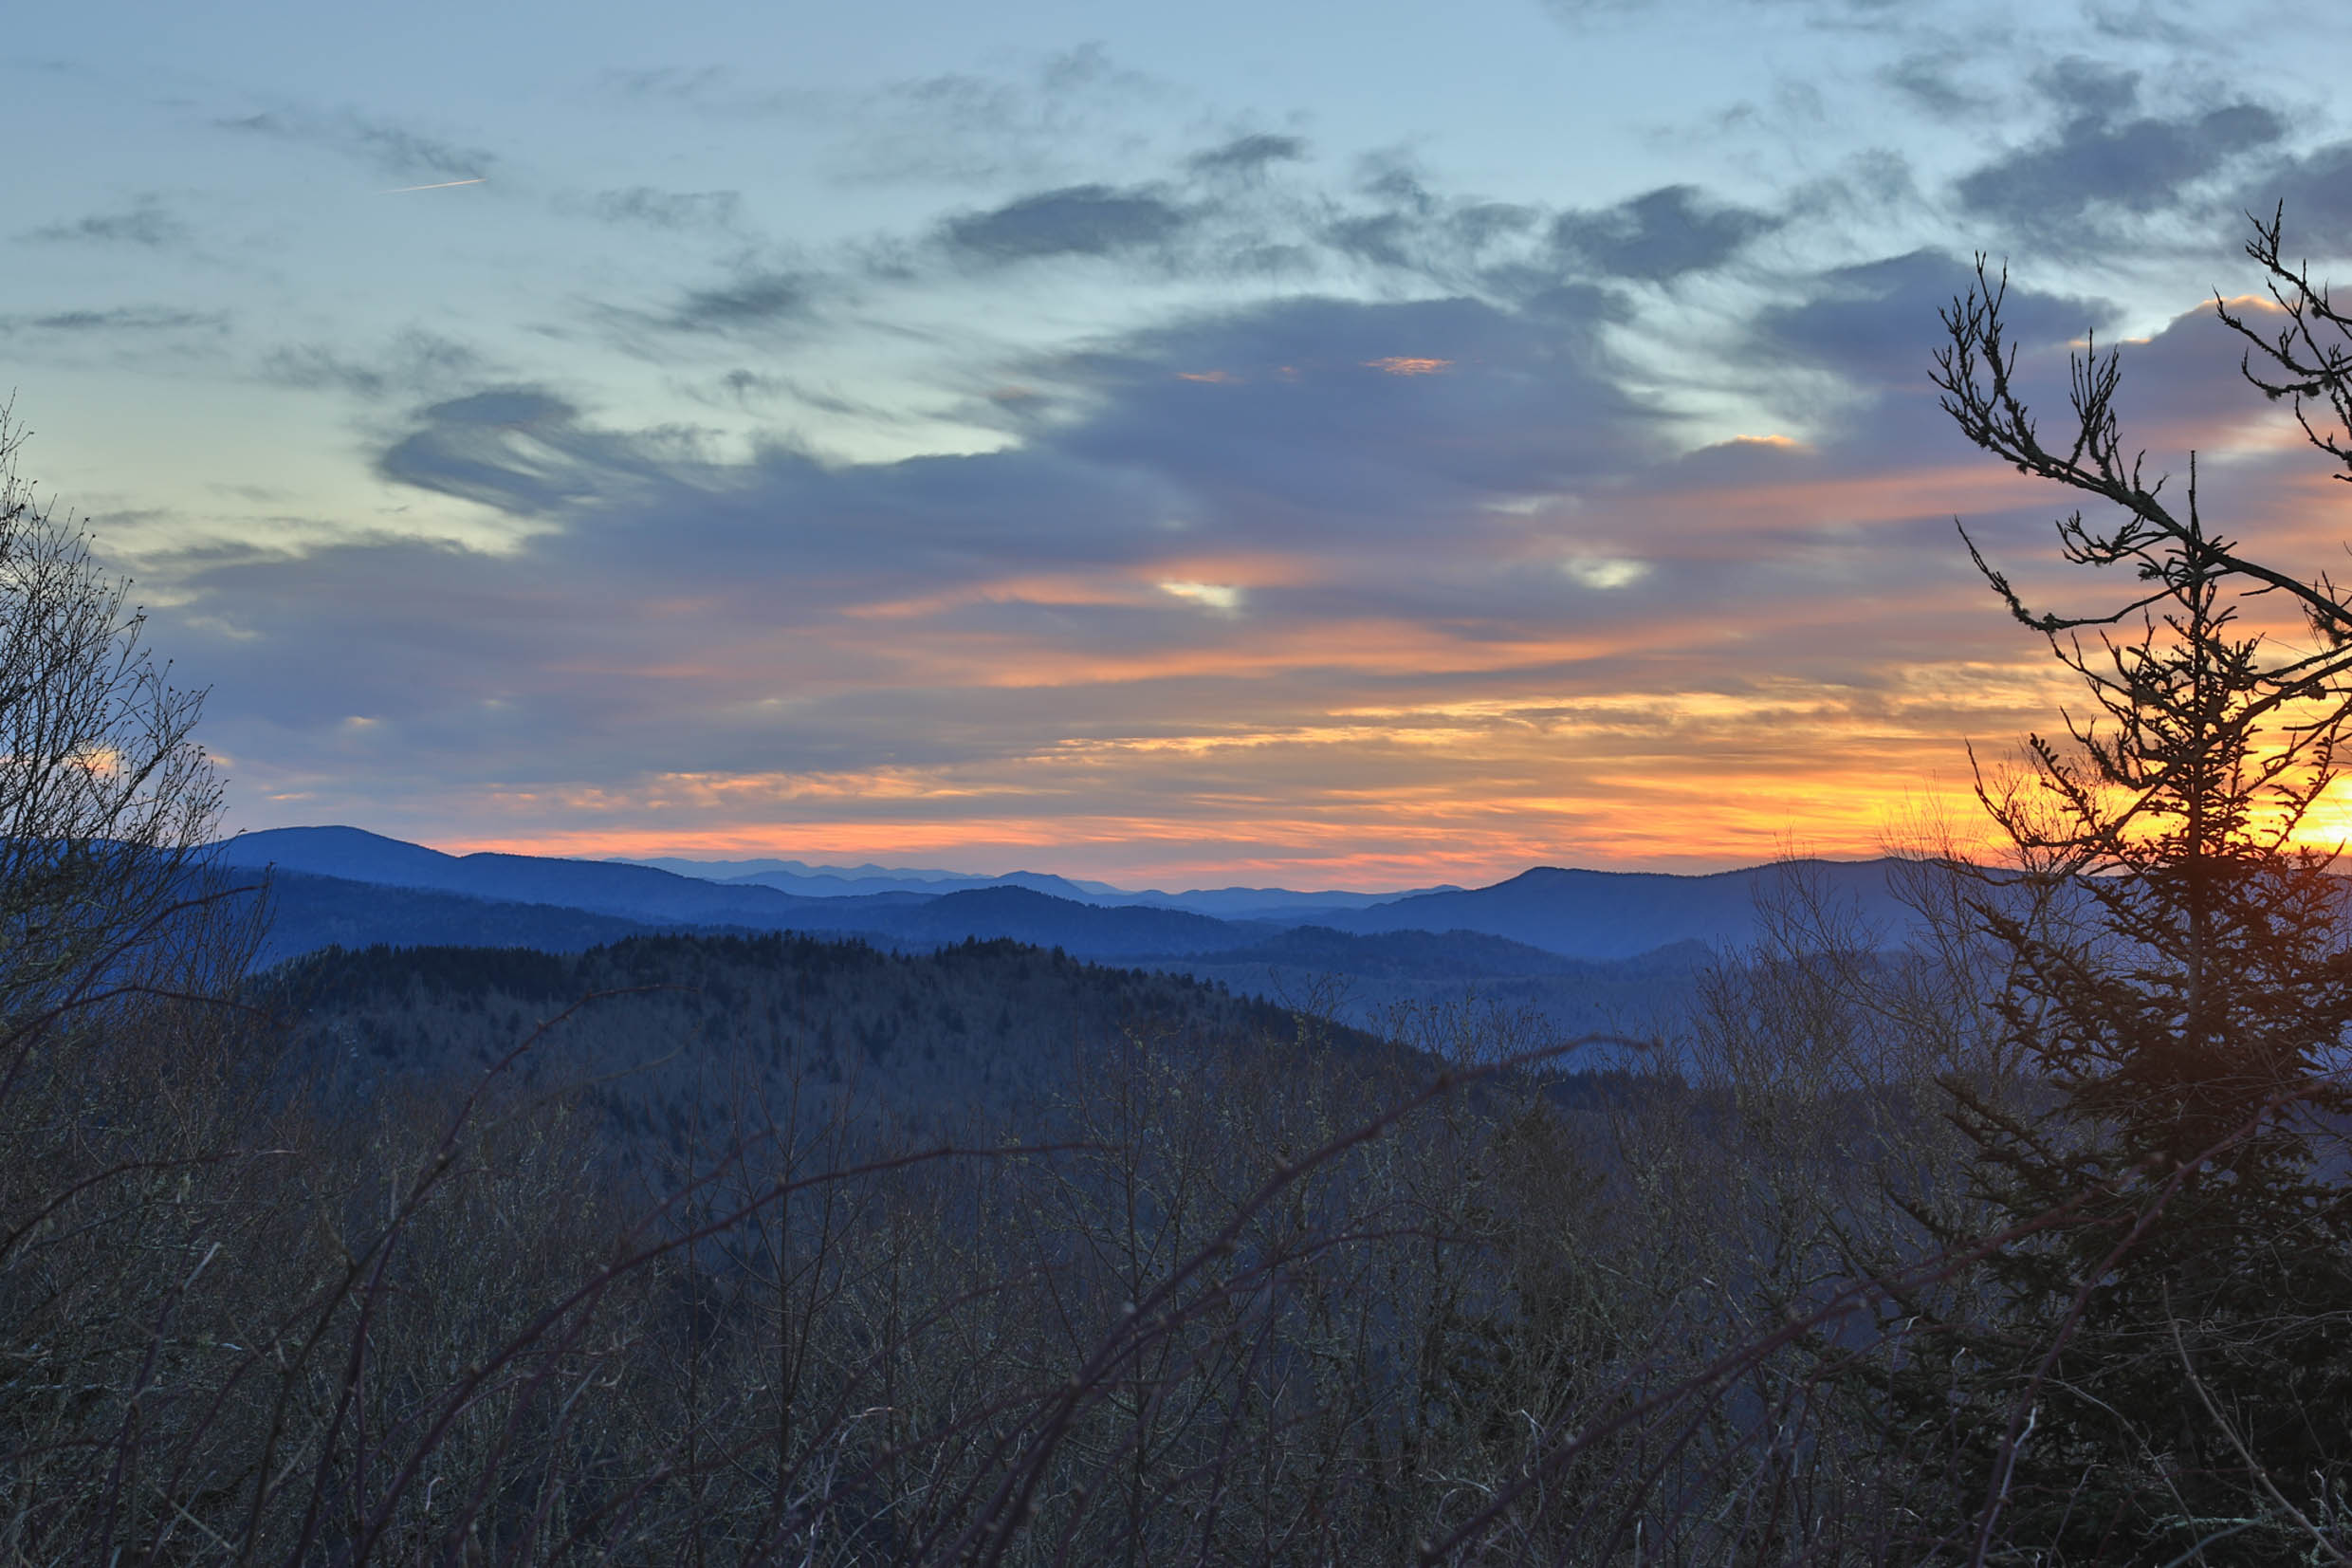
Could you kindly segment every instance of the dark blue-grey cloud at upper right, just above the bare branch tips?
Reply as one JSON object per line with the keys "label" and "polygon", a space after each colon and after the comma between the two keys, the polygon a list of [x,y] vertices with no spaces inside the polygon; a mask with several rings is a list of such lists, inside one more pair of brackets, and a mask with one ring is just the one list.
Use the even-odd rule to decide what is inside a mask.
{"label": "dark blue-grey cloud at upper right, just above the bare branch tips", "polygon": [[2086,108],[2058,134],[1997,158],[1959,181],[1962,205],[2053,244],[2096,242],[2082,233],[2093,209],[2150,214],[2232,160],[2277,143],[2286,120],[2260,103],[2225,103],[2176,120],[2112,118],[2131,103],[2129,78],[2077,71]]}

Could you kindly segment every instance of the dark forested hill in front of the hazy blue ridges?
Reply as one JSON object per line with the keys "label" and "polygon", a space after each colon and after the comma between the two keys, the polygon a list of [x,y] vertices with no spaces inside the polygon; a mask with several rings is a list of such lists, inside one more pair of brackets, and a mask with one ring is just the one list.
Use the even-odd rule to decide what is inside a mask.
{"label": "dark forested hill in front of the hazy blue ridges", "polygon": [[[1272,1048],[1301,1018],[1181,976],[1009,940],[884,952],[807,936],[640,936],[579,954],[482,947],[318,952],[263,980],[287,1072],[329,1105],[454,1084],[527,1039],[515,1077],[586,1093],[626,1140],[684,1152],[743,1117],[840,1105],[901,1131],[995,1138],[1115,1046]],[[550,1023],[555,1020],[555,1023]],[[546,1025],[543,1032],[541,1025]],[[1310,1023],[1364,1051],[1371,1037]]]}

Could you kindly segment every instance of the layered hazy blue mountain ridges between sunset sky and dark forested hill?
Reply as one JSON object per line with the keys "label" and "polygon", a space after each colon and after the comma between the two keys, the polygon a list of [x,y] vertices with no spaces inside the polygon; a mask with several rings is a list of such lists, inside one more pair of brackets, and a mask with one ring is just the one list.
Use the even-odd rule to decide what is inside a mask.
{"label": "layered hazy blue mountain ridges between sunset sky and dark forested hill", "polygon": [[1124,893],[1028,872],[713,863],[684,875],[696,863],[449,856],[358,827],[249,832],[221,844],[221,858],[268,870],[263,961],[379,943],[579,952],[654,931],[797,931],[898,952],[1011,938],[1254,994],[1338,983],[1350,997],[1341,1013],[1367,1023],[1383,1006],[1475,990],[1559,1027],[1618,1027],[1625,1011],[1686,987],[1712,952],[1752,943],[1759,898],[1790,875],[1884,943],[1912,919],[1889,889],[1891,860],[1708,877],[1534,867],[1484,889],[1411,893]]}

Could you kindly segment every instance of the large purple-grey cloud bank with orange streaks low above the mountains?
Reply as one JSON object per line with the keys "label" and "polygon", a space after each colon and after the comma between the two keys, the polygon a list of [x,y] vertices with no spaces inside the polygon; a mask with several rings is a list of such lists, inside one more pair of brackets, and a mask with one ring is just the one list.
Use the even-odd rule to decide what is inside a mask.
{"label": "large purple-grey cloud bank with orange streaks low above the mountains", "polygon": [[[1350,879],[1336,856],[1661,858],[1703,820],[1722,858],[1870,853],[1889,776],[2049,696],[1950,534],[2030,567],[2046,498],[1926,444],[1964,280],[1938,252],[1790,280],[1733,369],[1879,407],[1698,454],[1609,350],[1602,282],[1200,308],[1004,367],[1056,414],[969,456],[739,456],[473,390],[379,475],[520,538],[221,550],[169,564],[160,614],[240,790],[475,842],[1162,844]],[[2034,376],[2100,313],[2011,308]],[[2176,350],[2131,353],[2154,386]]]}

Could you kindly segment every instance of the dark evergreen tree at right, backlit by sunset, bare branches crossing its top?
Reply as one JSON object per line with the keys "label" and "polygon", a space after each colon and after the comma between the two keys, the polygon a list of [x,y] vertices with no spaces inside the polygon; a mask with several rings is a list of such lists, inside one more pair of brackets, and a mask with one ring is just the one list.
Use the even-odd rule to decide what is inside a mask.
{"label": "dark evergreen tree at right, backlit by sunset, bare branches crossing its top", "polygon": [[[2249,249],[2303,306],[2291,320],[2343,327],[2277,263],[2277,226]],[[1962,1434],[1976,1552],[2303,1556],[2345,1512],[2352,1462],[2352,952],[2333,856],[2303,842],[2352,719],[2352,614],[2326,578],[2211,529],[2194,458],[2178,503],[2143,484],[2112,350],[2074,360],[2060,451],[2016,393],[2002,282],[1978,268],[1945,329],[1945,409],[2023,473],[2110,503],[2107,524],[2058,524],[2063,555],[2133,588],[2093,616],[2034,611],[1971,543],[2091,710],[2027,741],[2020,785],[1980,783],[2020,870],[1973,870],[1969,905],[2006,961],[1999,1018],[2044,1110],[1952,1084],[1980,1194],[2018,1234],[1985,1265],[1994,1316],[1945,1324],[1957,1354],[1915,1368],[1898,1406],[1945,1406],[1938,1425]],[[2333,381],[2265,381],[2251,360],[2249,378],[2296,395],[2343,456],[2303,400],[2343,407],[2326,393],[2345,360],[2303,364]],[[2279,597],[2307,637],[2246,628],[2249,599]]]}

